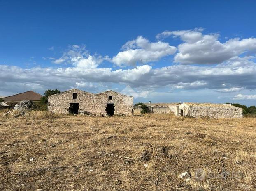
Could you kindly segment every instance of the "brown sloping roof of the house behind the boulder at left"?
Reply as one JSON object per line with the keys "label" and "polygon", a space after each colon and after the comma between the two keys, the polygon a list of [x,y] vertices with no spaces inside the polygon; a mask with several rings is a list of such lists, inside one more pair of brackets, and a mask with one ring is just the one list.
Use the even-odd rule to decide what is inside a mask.
{"label": "brown sloping roof of the house behind the boulder at left", "polygon": [[1,98],[6,101],[13,101],[13,100],[30,100],[30,101],[39,101],[42,98],[42,95],[39,93],[35,93],[34,91],[26,91],[23,93],[18,93],[13,96],[7,96],[5,98]]}

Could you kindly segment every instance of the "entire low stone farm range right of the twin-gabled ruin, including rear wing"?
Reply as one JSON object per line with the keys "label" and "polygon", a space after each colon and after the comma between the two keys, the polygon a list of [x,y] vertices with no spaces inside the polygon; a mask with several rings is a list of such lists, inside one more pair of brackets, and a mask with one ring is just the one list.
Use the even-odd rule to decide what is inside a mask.
{"label": "entire low stone farm range right of the twin-gabled ruin, including rear wing", "polygon": [[153,113],[173,113],[176,116],[242,118],[243,109],[231,104],[214,103],[157,103],[146,104]]}

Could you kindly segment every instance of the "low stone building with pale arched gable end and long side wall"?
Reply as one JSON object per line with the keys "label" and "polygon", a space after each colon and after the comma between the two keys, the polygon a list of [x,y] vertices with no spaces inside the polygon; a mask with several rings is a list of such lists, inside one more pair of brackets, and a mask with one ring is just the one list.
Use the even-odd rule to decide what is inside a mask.
{"label": "low stone building with pale arched gable end and long side wall", "polygon": [[242,118],[243,109],[231,104],[182,103],[176,106],[175,115],[210,118]]}

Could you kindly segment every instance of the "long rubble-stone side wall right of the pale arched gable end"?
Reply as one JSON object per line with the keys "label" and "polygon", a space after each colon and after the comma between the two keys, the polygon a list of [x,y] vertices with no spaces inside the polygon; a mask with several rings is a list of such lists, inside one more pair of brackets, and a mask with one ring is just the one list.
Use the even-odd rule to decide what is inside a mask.
{"label": "long rubble-stone side wall right of the pale arched gable end", "polygon": [[243,109],[238,107],[190,107],[190,116],[209,116],[210,118],[242,118]]}

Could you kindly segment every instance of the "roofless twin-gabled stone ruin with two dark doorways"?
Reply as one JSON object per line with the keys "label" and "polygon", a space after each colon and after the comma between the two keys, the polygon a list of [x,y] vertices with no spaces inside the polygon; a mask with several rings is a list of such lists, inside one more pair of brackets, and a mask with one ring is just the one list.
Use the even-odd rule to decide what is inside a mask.
{"label": "roofless twin-gabled stone ruin with two dark doorways", "polygon": [[58,114],[84,112],[98,116],[132,115],[133,97],[111,90],[94,94],[71,89],[49,96],[48,111]]}

